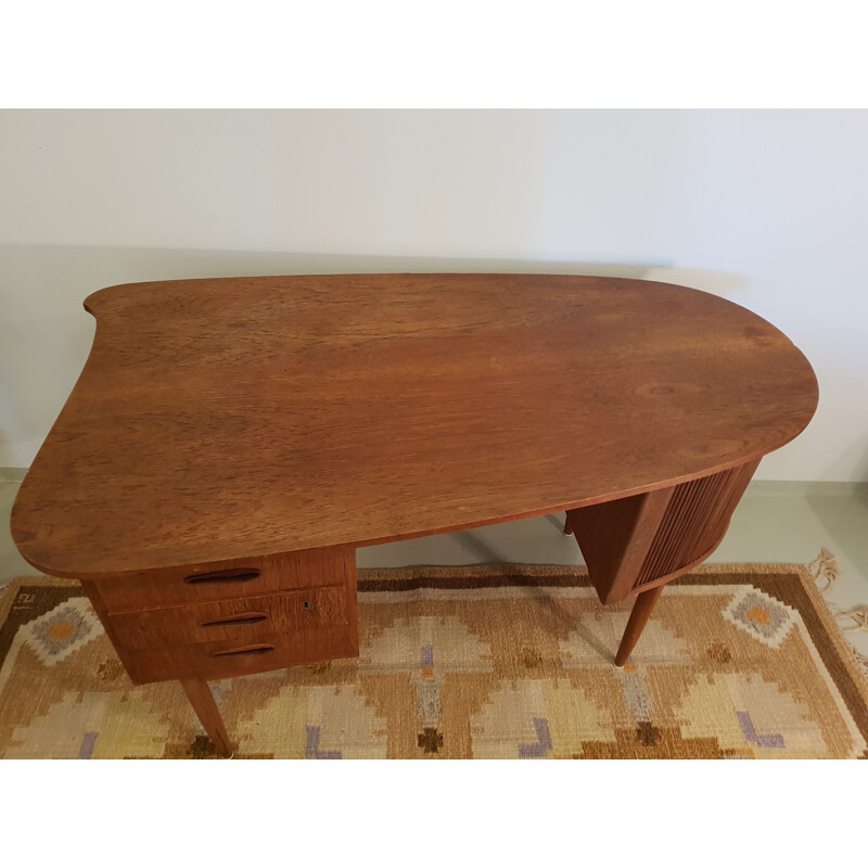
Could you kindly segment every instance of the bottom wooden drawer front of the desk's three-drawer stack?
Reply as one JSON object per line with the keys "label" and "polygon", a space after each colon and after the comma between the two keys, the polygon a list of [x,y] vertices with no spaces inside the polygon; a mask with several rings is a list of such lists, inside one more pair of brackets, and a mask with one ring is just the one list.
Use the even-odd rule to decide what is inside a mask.
{"label": "bottom wooden drawer front of the desk's three-drawer stack", "polygon": [[358,656],[355,624],[270,633],[253,641],[224,640],[135,651],[117,649],[136,684],[171,678],[218,680],[304,663]]}

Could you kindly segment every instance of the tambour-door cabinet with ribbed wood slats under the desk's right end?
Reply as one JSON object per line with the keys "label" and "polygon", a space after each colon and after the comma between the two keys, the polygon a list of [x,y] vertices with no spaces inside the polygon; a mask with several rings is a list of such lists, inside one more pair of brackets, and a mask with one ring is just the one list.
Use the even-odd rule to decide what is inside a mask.
{"label": "tambour-door cabinet with ribbed wood slats under the desk's right end", "polygon": [[600,599],[617,602],[705,560],[722,541],[757,464],[570,510],[569,527]]}

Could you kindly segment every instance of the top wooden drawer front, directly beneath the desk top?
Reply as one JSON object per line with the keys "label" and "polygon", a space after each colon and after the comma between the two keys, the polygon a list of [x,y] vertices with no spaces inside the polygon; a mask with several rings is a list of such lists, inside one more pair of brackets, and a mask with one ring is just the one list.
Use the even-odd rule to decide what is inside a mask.
{"label": "top wooden drawer front, directly beneath the desk top", "polygon": [[345,561],[352,559],[355,567],[355,558],[352,548],[311,549],[244,562],[181,566],[94,584],[105,609],[114,614],[343,585]]}

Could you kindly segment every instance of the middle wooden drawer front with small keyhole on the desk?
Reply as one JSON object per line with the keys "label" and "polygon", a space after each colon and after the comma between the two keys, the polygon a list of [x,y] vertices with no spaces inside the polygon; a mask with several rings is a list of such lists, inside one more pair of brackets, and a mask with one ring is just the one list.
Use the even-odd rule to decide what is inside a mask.
{"label": "middle wooden drawer front with small keyhole on the desk", "polygon": [[216,603],[108,615],[125,648],[159,648],[218,640],[251,641],[272,633],[346,624],[346,591],[340,588],[242,597]]}

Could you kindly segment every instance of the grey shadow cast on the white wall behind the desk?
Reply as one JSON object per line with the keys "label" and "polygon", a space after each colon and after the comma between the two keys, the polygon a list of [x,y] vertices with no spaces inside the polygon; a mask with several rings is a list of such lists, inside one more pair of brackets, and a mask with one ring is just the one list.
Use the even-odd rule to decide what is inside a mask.
{"label": "grey shadow cast on the white wall behind the desk", "polygon": [[323,253],[0,245],[0,467],[28,467],[69,395],[93,341],[81,303],[118,283],[187,278],[376,272],[598,275],[682,283],[736,293],[737,275],[671,263],[560,263],[522,259]]}

